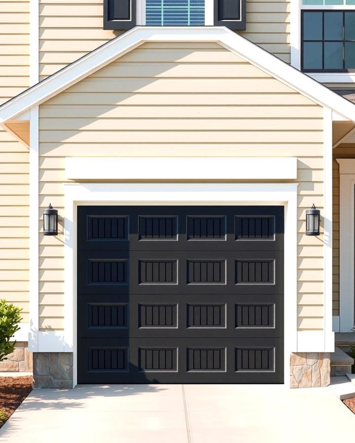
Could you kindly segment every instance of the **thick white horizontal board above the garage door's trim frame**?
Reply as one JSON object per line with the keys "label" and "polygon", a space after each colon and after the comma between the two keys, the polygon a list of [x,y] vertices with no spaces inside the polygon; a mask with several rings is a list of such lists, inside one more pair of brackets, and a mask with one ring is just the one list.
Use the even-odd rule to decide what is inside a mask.
{"label": "thick white horizontal board above the garage door's trim frame", "polygon": [[68,180],[295,180],[297,158],[66,158]]}

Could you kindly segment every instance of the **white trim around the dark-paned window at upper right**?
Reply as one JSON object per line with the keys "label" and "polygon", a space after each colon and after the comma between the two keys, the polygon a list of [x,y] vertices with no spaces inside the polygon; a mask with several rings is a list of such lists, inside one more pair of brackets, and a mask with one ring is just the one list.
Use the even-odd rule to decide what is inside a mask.
{"label": "white trim around the dark-paned window at upper right", "polygon": [[[303,5],[302,0],[291,1],[290,11],[290,46],[291,66],[301,69],[301,11],[302,10],[349,10],[355,11],[355,5]],[[355,72],[306,72],[320,83],[355,83]]]}

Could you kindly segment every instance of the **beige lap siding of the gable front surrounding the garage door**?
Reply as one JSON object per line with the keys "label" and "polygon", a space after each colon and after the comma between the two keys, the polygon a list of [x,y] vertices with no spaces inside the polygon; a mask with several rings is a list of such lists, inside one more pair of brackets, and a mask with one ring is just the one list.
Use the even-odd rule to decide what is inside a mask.
{"label": "beige lap siding of the gable front surrounding the garage door", "polygon": [[[66,157],[298,158],[298,327],[323,327],[322,108],[212,43],[149,43],[39,109],[39,213],[64,214]],[[60,226],[62,231],[62,226]],[[40,327],[63,328],[63,235],[40,235]]]}

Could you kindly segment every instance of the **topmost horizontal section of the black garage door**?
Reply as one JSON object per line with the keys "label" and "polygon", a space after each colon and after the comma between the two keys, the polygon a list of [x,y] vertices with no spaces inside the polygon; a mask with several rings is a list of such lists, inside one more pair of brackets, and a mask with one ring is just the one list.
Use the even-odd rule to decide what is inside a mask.
{"label": "topmost horizontal section of the black garage door", "polygon": [[[186,208],[186,209],[185,209]],[[241,250],[283,247],[282,207],[150,207],[87,206],[80,210],[78,222],[85,226],[78,233],[81,249],[91,250],[210,250],[213,244]],[[216,214],[217,212],[217,214]],[[210,214],[209,214],[210,213]],[[238,214],[235,214],[238,213]],[[271,213],[271,214],[270,214]]]}

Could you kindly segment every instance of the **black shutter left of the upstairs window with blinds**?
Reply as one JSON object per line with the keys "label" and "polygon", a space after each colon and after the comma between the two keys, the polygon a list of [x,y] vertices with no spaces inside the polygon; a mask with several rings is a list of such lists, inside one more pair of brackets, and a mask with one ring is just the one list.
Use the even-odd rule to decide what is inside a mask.
{"label": "black shutter left of the upstairs window with blinds", "polygon": [[136,0],[104,0],[104,29],[136,26]]}

